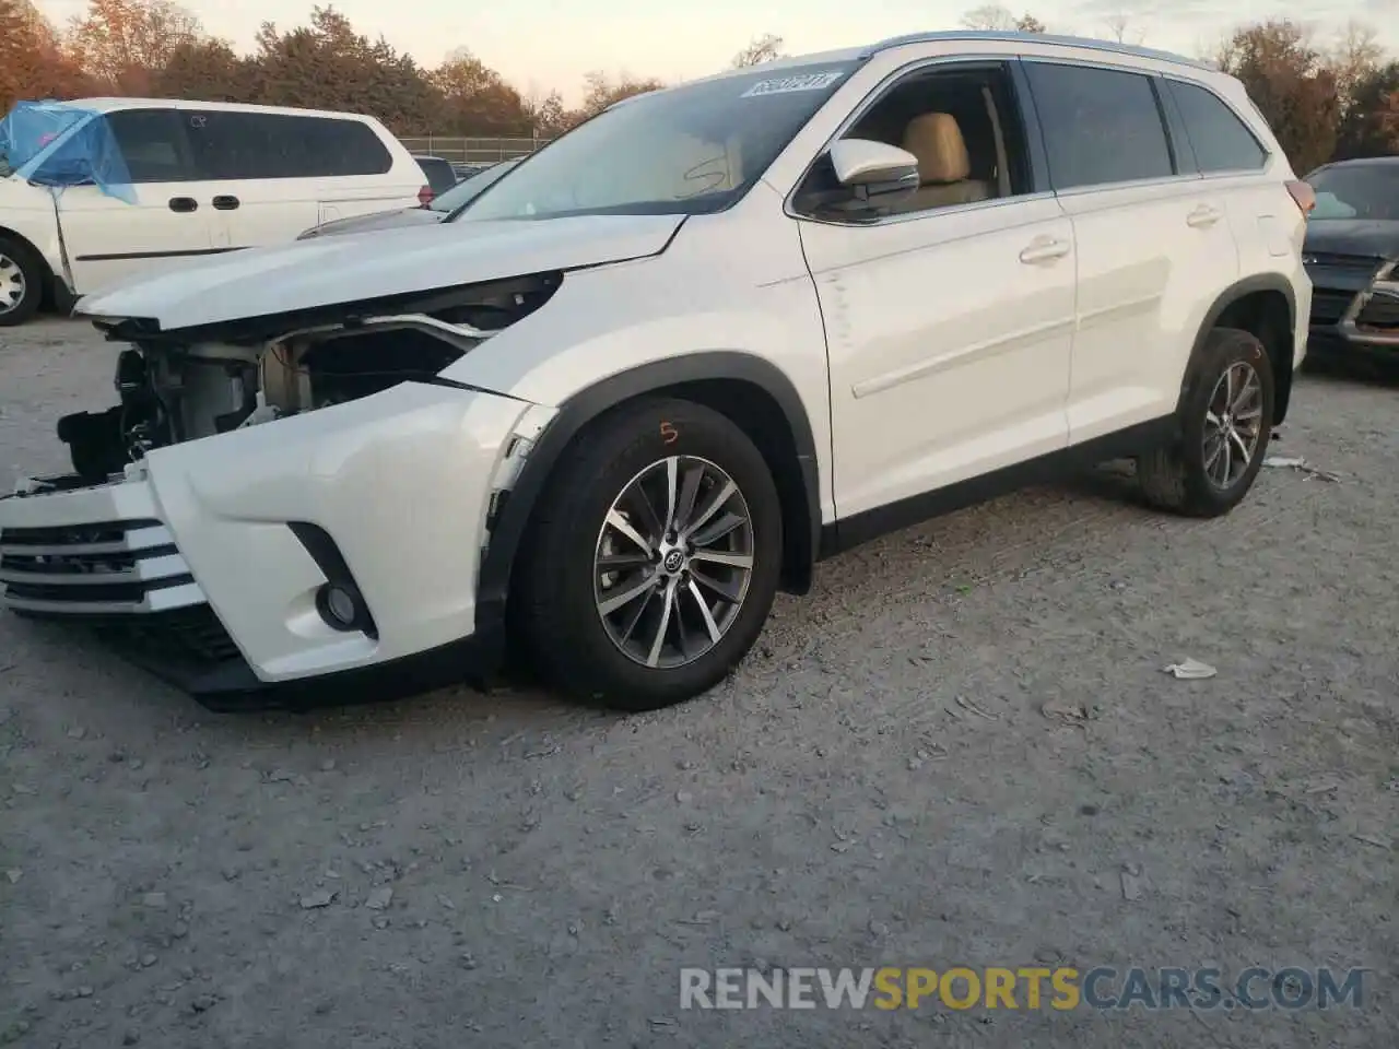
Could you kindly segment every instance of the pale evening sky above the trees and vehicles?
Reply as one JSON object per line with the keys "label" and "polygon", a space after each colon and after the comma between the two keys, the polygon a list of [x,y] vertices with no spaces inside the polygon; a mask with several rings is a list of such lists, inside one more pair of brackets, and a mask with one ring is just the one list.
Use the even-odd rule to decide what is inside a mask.
{"label": "pale evening sky above the trees and vehicles", "polygon": [[[204,28],[250,50],[263,21],[284,28],[304,20],[280,0],[182,0]],[[38,0],[55,22],[81,13],[85,0]],[[360,32],[381,32],[425,66],[467,48],[526,95],[558,90],[582,95],[590,70],[665,81],[705,76],[729,63],[754,36],[776,34],[790,55],[869,43],[926,29],[956,29],[978,0],[339,0]],[[1349,18],[1379,29],[1399,52],[1399,0],[1034,0],[1028,10],[1051,32],[1107,36],[1123,15],[1129,42],[1199,55],[1238,22],[1287,17],[1328,34]],[[1136,39],[1143,38],[1143,39]]]}

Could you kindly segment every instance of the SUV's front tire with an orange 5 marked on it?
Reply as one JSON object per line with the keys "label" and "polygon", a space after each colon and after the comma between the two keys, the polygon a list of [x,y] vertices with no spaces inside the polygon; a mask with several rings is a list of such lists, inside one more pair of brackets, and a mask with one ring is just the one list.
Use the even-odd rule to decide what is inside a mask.
{"label": "SUV's front tire with an orange 5 marked on it", "polygon": [[[698,480],[690,481],[695,495],[688,499],[693,512],[686,513],[691,477]],[[727,481],[736,497],[706,516]],[[655,520],[648,520],[638,490],[648,495]],[[621,515],[623,524],[659,547],[656,533],[672,490],[681,530],[698,524],[697,555],[691,559],[667,544],[644,559],[610,515]],[[747,523],[723,531],[733,519]],[[713,559],[723,554],[729,561],[751,554],[747,575],[737,564]],[[617,571],[604,573],[599,558],[610,558]],[[564,455],[540,497],[518,565],[511,620],[533,667],[579,698],[653,711],[719,684],[758,639],[781,573],[782,506],[762,453],[737,425],[693,401],[648,399],[599,420]],[[720,600],[713,583],[736,600]],[[624,600],[642,586],[649,589]],[[674,618],[660,629],[672,586]],[[604,615],[607,603],[617,607]]]}

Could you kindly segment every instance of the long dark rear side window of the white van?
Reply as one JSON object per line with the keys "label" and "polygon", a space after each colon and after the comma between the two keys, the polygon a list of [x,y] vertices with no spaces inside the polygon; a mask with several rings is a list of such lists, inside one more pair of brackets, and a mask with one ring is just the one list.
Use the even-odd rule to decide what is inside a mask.
{"label": "long dark rear side window of the white van", "polygon": [[185,110],[194,164],[206,179],[319,179],[382,175],[393,157],[371,127],[242,110]]}

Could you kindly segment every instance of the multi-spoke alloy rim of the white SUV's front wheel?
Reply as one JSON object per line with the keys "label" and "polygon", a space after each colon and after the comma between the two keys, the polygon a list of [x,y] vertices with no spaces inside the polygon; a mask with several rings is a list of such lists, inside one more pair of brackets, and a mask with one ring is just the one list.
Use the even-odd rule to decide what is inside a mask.
{"label": "multi-spoke alloy rim of the white SUV's front wheel", "polygon": [[733,627],[753,564],[753,516],[734,480],[708,459],[670,456],[607,511],[593,554],[597,615],[635,663],[684,666]]}

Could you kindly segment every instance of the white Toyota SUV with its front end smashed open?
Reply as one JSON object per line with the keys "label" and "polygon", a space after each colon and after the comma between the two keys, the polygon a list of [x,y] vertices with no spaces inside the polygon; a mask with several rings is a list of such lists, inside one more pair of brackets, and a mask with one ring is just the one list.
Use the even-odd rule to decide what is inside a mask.
{"label": "white Toyota SUV with its front end smashed open", "polygon": [[1093,41],[642,95],[450,221],[87,301],[122,404],[0,501],[0,580],[208,705],[462,678],[506,636],[673,704],[820,558],[1065,466],[1230,511],[1304,354],[1309,206],[1237,81]]}

